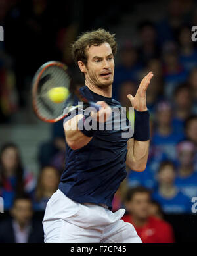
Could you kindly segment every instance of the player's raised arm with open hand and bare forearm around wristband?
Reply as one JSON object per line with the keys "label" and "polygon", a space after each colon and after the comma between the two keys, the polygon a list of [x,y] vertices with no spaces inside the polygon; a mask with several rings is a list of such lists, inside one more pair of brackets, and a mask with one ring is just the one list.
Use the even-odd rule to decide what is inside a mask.
{"label": "player's raised arm with open hand and bare forearm around wristband", "polygon": [[[148,112],[146,106],[146,90],[148,88],[148,84],[150,84],[150,80],[152,79],[153,74],[149,72],[141,81],[139,88],[135,97],[131,94],[127,95],[127,98],[131,101],[132,107],[136,111],[138,111],[138,115],[145,114],[144,117],[146,118],[146,113]],[[143,113],[141,113],[143,112]],[[139,129],[143,129],[144,122],[142,117],[142,123],[139,126]],[[147,119],[147,118],[146,118]],[[136,120],[135,120],[136,122]],[[139,122],[139,121],[138,121]],[[148,124],[149,125],[149,124]],[[134,131],[135,134],[135,131]],[[136,140],[131,138],[127,141],[127,159],[126,164],[131,168],[131,170],[135,170],[138,172],[142,172],[146,168],[146,163],[148,159],[148,149],[149,149],[150,140]]]}

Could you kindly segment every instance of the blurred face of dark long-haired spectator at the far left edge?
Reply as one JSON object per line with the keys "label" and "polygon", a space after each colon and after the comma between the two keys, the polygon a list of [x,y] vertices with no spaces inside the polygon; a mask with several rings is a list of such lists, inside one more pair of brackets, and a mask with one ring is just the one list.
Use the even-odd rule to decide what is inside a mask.
{"label": "blurred face of dark long-haired spectator at the far left edge", "polygon": [[18,163],[18,154],[16,149],[14,149],[14,147],[8,147],[5,149],[1,155],[1,161],[5,168],[14,168]]}

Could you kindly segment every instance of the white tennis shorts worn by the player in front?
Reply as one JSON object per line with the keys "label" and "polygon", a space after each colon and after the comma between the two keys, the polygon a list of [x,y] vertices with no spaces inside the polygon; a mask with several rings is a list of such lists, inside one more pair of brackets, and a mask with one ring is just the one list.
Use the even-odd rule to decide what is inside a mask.
{"label": "white tennis shorts worn by the player in front", "polygon": [[141,243],[133,225],[121,220],[124,213],[77,203],[58,189],[43,218],[45,243]]}

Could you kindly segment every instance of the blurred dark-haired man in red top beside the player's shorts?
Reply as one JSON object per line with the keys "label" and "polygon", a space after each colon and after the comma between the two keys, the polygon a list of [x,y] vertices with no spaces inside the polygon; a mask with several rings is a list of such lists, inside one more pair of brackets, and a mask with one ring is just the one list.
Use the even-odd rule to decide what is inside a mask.
{"label": "blurred dark-haired man in red top beside the player's shorts", "polygon": [[[149,215],[150,191],[141,186],[127,192],[125,206],[129,214],[122,219],[135,227],[144,243],[173,243],[175,238],[170,224]],[[161,232],[162,230],[162,232]]]}

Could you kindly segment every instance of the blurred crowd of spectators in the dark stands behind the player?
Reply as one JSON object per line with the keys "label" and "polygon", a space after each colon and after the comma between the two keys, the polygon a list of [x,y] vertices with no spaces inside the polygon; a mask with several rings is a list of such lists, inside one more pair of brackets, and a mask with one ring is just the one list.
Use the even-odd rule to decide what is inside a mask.
{"label": "blurred crowd of spectators in the dark stands behind the player", "polygon": [[[80,31],[93,27],[84,22],[81,28],[77,18],[63,16],[65,10],[72,10],[67,1],[61,7],[47,0],[0,0],[0,24],[6,40],[0,43],[0,124],[9,124],[12,115],[26,107],[22,91],[29,90],[35,70],[45,61],[63,61],[79,77],[68,46]],[[99,19],[93,24],[100,26]],[[118,50],[112,97],[123,107],[131,107],[127,94],[135,95],[142,78],[149,71],[154,73],[146,93],[151,132],[146,170],[127,168],[127,179],[116,192],[112,209],[126,209],[123,220],[135,226],[142,242],[175,242],[173,226],[165,215],[192,215],[191,200],[197,196],[194,25],[196,1],[171,0],[161,20],[139,22],[135,32],[139,43],[128,38]],[[83,85],[80,78],[77,82]],[[45,210],[58,188],[65,150],[62,121],[51,125],[51,140],[42,141],[37,151],[37,177],[23,166],[18,145],[8,141],[1,147],[0,196],[11,218],[0,221],[0,242],[43,242],[41,221],[34,221],[32,216]],[[5,228],[11,230],[11,236],[5,236]]]}

